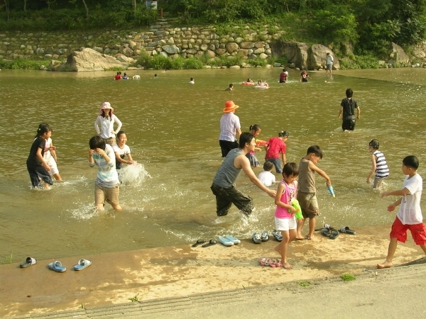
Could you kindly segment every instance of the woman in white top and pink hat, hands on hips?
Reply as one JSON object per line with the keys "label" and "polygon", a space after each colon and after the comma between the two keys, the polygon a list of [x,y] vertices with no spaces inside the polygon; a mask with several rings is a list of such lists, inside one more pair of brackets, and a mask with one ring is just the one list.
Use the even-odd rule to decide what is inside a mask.
{"label": "woman in white top and pink hat, hands on hips", "polygon": [[[114,114],[114,108],[111,108],[109,102],[104,102],[100,109],[99,116],[94,121],[94,129],[98,135],[104,139],[109,145],[116,143],[115,135],[121,128],[121,121]],[[114,123],[117,123],[117,128],[114,130]],[[101,128],[99,129],[99,125]]]}

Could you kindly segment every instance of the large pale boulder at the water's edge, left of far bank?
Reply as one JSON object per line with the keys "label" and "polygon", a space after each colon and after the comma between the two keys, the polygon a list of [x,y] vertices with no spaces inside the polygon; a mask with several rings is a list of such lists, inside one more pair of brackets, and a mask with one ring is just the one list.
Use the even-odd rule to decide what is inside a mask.
{"label": "large pale boulder at the water's edge, left of far bank", "polygon": [[68,55],[67,62],[58,67],[58,71],[103,71],[111,67],[122,67],[126,69],[129,63],[120,62],[115,57],[103,55],[95,50],[86,47],[80,51],[72,52]]}

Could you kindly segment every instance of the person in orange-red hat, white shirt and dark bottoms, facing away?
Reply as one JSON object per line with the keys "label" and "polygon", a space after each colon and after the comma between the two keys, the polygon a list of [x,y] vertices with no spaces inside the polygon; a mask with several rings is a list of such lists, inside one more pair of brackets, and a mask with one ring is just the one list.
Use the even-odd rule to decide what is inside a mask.
{"label": "person in orange-red hat, white shirt and dark bottoms, facing away", "polygon": [[241,135],[241,125],[239,117],[234,114],[237,108],[239,106],[235,105],[233,101],[226,101],[224,115],[220,118],[219,145],[222,157],[226,157],[230,150],[239,146],[236,139]]}

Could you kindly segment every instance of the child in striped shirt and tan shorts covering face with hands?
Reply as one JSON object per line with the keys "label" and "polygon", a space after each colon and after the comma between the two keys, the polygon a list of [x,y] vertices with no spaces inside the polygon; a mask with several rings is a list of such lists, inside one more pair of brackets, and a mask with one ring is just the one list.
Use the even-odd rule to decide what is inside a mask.
{"label": "child in striped shirt and tan shorts covering face with hands", "polygon": [[99,135],[89,140],[89,167],[98,167],[94,183],[94,205],[98,211],[104,210],[105,201],[116,211],[121,211],[119,203],[120,181],[117,174],[115,155],[112,147]]}

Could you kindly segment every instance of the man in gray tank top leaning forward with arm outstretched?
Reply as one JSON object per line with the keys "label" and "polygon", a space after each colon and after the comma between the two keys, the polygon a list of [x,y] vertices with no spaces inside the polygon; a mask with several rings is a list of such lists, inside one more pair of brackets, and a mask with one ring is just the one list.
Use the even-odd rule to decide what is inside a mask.
{"label": "man in gray tank top leaning forward with arm outstretched", "polygon": [[246,215],[251,214],[253,199],[234,186],[241,169],[259,189],[269,196],[275,197],[276,191],[264,186],[251,169],[250,161],[246,154],[254,151],[254,147],[256,147],[254,136],[249,132],[242,133],[239,139],[239,148],[231,150],[217,170],[212,187],[210,187],[216,196],[217,216],[226,216],[233,203]]}

